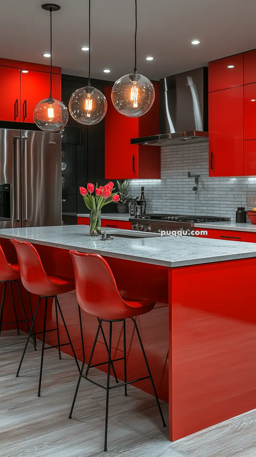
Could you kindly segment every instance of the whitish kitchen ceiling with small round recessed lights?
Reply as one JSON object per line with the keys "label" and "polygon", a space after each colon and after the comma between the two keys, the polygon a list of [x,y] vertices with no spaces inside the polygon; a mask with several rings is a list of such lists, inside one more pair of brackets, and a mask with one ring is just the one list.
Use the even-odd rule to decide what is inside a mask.
{"label": "whitish kitchen ceiling with small round recessed lights", "polygon": [[[54,0],[53,65],[87,75],[88,0]],[[49,64],[49,13],[39,0],[0,0],[0,57]],[[138,0],[138,72],[158,80],[256,48],[255,0]],[[192,46],[190,40],[202,43]],[[91,0],[91,76],[133,70],[134,0]],[[148,62],[147,55],[155,60]],[[102,72],[112,69],[110,74]]]}

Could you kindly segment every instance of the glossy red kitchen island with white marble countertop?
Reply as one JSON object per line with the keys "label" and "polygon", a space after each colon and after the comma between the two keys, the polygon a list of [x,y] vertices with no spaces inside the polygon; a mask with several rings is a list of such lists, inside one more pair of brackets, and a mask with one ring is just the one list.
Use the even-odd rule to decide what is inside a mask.
{"label": "glossy red kitchen island with white marble countertop", "polygon": [[[104,255],[123,296],[156,301],[155,309],[137,323],[159,397],[169,401],[171,441],[256,408],[256,306],[253,296],[245,293],[256,276],[255,244],[172,236],[101,241],[89,237],[85,226],[3,229],[0,244],[8,260],[15,255],[11,238],[35,244],[47,273],[53,275],[74,276],[69,249]],[[24,288],[22,295],[26,299]],[[82,360],[75,292],[65,294],[61,306]],[[54,318],[50,309],[49,328]],[[88,361],[97,321],[84,313],[82,319]],[[37,331],[40,325],[39,318]],[[146,368],[133,326],[128,324],[127,330],[132,379],[144,376]],[[121,324],[113,331],[112,356],[118,358]],[[48,333],[47,338],[48,344],[56,344],[55,335]],[[93,363],[106,361],[103,340],[96,349]],[[62,363],[57,355],[56,363]],[[115,367],[123,379],[122,361]],[[136,387],[152,393],[148,380]]]}

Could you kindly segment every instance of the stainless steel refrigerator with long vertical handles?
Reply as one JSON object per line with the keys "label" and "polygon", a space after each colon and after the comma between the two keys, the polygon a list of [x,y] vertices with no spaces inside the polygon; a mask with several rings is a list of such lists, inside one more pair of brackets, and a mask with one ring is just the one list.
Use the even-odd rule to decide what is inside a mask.
{"label": "stainless steel refrigerator with long vertical handles", "polygon": [[0,228],[61,225],[61,134],[0,129]]}

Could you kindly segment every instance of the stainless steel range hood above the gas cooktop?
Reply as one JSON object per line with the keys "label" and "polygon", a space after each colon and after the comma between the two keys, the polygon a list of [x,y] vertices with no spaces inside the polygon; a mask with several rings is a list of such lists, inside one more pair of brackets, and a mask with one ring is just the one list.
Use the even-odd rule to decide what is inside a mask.
{"label": "stainless steel range hood above the gas cooktop", "polygon": [[208,142],[208,68],[160,80],[159,135],[131,144],[175,146]]}

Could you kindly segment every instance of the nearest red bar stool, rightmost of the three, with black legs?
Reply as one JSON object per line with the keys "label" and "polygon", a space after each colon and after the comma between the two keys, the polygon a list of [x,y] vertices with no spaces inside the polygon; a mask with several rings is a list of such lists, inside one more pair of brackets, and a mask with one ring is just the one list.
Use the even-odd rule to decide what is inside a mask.
{"label": "nearest red bar stool, rightmost of the three, with black legs", "polygon": [[[149,363],[144,351],[141,337],[139,335],[139,329],[137,323],[134,319],[134,316],[139,316],[141,314],[146,314],[151,311],[155,302],[149,302],[145,300],[138,301],[124,301],[121,295],[117,290],[117,285],[112,274],[110,267],[108,266],[106,260],[98,254],[85,254],[82,252],[77,252],[75,250],[69,251],[72,256],[74,267],[75,267],[75,289],[76,296],[80,307],[88,314],[99,318],[99,326],[97,329],[96,337],[92,346],[91,356],[86,368],[85,375],[83,375],[83,370],[85,367],[85,357],[83,359],[83,364],[80,371],[80,376],[75,390],[75,396],[71,406],[69,419],[72,417],[72,412],[75,405],[75,399],[78,393],[81,377],[84,377],[88,381],[97,386],[105,389],[107,391],[106,398],[106,417],[105,417],[105,442],[104,442],[104,451],[107,451],[107,424],[108,424],[108,402],[109,402],[109,391],[116,387],[124,386],[124,394],[127,396],[127,384],[135,383],[137,381],[142,381],[143,379],[149,378],[153,387],[155,394],[156,403],[160,412],[160,416],[163,422],[164,427],[166,427],[164,416],[160,407],[159,399],[156,393],[155,384],[149,369]],[[133,321],[134,327],[136,329],[140,347],[144,356],[144,361],[148,370],[149,375],[141,377],[139,379],[134,379],[133,381],[127,381],[127,369],[126,369],[126,332],[125,332],[125,320],[131,319]],[[88,372],[90,367],[103,365],[91,365],[92,356],[95,350],[96,342],[98,335],[101,329],[102,322],[109,322],[109,351],[108,351],[108,366],[107,366],[107,387],[102,386],[101,384],[96,383],[88,377]],[[112,362],[117,360],[124,361],[124,383],[115,384],[110,386],[110,367],[111,367],[111,344],[112,344],[112,323],[113,322],[123,322],[123,352],[124,357],[121,359],[112,360]],[[83,341],[82,341],[83,344]]]}

